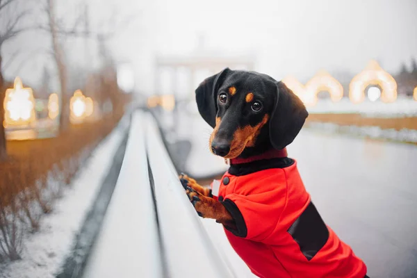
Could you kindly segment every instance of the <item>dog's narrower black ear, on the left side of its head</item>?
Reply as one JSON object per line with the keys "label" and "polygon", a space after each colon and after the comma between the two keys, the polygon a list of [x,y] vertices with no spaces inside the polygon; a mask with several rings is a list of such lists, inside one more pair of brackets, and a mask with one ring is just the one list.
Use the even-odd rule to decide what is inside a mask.
{"label": "dog's narrower black ear, on the left side of its head", "polygon": [[215,115],[218,112],[217,92],[229,72],[229,67],[226,67],[222,72],[205,79],[195,90],[198,111],[213,128],[215,126]]}

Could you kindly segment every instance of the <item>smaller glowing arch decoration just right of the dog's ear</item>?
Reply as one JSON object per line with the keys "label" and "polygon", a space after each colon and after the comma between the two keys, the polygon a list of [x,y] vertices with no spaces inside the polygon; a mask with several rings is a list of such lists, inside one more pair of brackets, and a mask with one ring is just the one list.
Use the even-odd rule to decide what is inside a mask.
{"label": "smaller glowing arch decoration just right of the dog's ear", "polygon": [[333,102],[340,101],[343,98],[343,86],[337,79],[325,70],[320,70],[309,82],[306,83],[306,97],[309,104],[317,103],[319,92],[327,91]]}

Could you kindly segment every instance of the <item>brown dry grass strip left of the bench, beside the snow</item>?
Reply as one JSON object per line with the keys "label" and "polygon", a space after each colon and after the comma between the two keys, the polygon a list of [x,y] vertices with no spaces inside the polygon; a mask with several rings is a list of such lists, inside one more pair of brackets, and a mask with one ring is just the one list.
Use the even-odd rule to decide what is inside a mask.
{"label": "brown dry grass strip left of the bench, beside the snow", "polygon": [[56,138],[8,142],[8,160],[0,162],[0,262],[19,259],[24,231],[39,229],[42,215],[120,117],[71,126]]}

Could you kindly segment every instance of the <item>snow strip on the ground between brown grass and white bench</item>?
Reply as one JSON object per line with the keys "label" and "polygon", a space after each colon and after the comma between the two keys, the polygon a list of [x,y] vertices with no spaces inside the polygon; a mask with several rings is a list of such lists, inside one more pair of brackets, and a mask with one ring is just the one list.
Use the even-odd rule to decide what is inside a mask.
{"label": "snow strip on the ground between brown grass and white bench", "polygon": [[1,278],[55,277],[71,250],[74,236],[94,202],[102,179],[106,177],[106,170],[111,167],[113,154],[122,142],[128,125],[129,118],[125,116],[92,152],[83,170],[54,205],[54,211],[43,216],[40,230],[24,235],[22,259],[0,268]]}

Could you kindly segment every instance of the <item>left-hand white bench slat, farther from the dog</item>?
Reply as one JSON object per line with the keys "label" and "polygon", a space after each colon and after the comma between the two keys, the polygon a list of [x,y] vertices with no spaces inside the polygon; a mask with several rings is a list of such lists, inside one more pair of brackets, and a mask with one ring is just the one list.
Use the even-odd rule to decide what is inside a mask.
{"label": "left-hand white bench slat, farther from the dog", "polygon": [[133,114],[122,170],[84,277],[163,277],[144,117]]}

